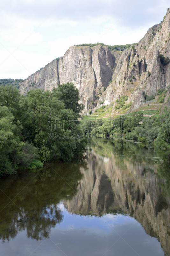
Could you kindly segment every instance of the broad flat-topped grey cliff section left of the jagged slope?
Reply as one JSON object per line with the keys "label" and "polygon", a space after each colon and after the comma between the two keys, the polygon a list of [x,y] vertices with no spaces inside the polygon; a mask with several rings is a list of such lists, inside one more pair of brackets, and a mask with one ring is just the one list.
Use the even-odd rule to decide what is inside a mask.
{"label": "broad flat-topped grey cliff section left of the jagged slope", "polygon": [[21,93],[25,94],[32,88],[51,91],[59,83],[73,82],[80,91],[81,102],[88,110],[88,104],[96,100],[95,94],[108,86],[116,61],[114,56],[114,53],[102,45],[71,46],[59,63],[53,60],[45,68],[29,76],[20,87]]}

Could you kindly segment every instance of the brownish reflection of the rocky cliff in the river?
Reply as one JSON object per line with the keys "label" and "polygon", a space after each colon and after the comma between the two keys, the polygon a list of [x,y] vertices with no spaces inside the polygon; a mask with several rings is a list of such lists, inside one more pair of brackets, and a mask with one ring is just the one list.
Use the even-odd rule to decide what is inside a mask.
{"label": "brownish reflection of the rocky cliff in the river", "polygon": [[[140,151],[137,144],[132,147]],[[147,234],[157,237],[165,253],[170,255],[170,198],[163,195],[156,174],[145,168],[147,164],[152,168],[158,166],[146,159],[148,152],[151,156],[157,156],[156,153],[142,148],[141,156],[124,143],[119,150],[108,144],[105,153],[99,145],[94,144],[93,148],[89,150],[88,170],[81,169],[84,178],[77,194],[65,201],[68,211],[97,215],[127,212],[142,224]]]}

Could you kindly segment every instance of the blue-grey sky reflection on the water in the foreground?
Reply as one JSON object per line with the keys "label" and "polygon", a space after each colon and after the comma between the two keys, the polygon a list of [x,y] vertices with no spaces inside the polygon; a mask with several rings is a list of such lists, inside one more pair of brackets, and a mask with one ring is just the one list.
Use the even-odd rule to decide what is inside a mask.
{"label": "blue-grey sky reflection on the water in the foreground", "polygon": [[128,215],[102,217],[68,213],[59,205],[63,221],[51,229],[50,239],[27,238],[26,230],[0,244],[1,256],[163,256],[156,238]]}

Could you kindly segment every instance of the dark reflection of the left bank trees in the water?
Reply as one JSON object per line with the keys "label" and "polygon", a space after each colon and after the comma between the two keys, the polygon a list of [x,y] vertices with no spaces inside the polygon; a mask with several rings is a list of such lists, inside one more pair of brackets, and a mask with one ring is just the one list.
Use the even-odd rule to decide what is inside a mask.
{"label": "dark reflection of the left bank trees in the water", "polygon": [[53,162],[38,173],[21,172],[1,179],[2,191],[15,198],[11,203],[0,191],[0,238],[9,240],[25,229],[28,237],[37,240],[49,237],[51,228],[63,218],[57,204],[61,199],[71,199],[77,192],[78,181],[83,176],[81,166],[86,168],[85,161]]}

